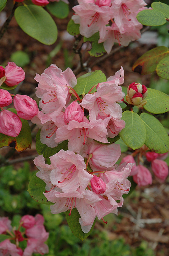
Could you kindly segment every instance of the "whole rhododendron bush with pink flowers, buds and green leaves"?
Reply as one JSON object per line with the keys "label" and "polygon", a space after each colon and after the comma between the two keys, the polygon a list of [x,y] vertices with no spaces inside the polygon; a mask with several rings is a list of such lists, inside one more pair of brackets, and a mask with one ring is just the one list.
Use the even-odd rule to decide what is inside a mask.
{"label": "whole rhododendron bush with pink flowers, buds and green leaves", "polygon": [[[0,11],[6,2],[0,3]],[[68,4],[67,0],[16,0],[13,12],[25,33],[50,45],[57,39],[57,27],[49,13],[63,19],[69,14]],[[153,7],[165,21],[169,20],[169,12],[163,15],[168,5],[159,2]],[[117,214],[124,195],[137,184],[151,185],[154,178],[165,182],[168,176],[164,160],[169,138],[158,120],[158,115],[168,111],[168,95],[134,79],[126,88],[123,62],[115,74],[106,78],[101,70],[91,71],[81,54],[85,42],[90,43],[89,59],[89,55],[108,56],[112,47],[117,51],[139,39],[144,24],[141,13],[149,15],[152,8],[146,7],[144,0],[78,0],[73,12],[70,10],[67,31],[75,37],[73,50],[79,54],[80,68],[61,70],[56,63],[42,74],[37,70],[34,79],[38,102],[15,93],[25,78],[23,68],[14,62],[0,66],[0,147],[11,146],[18,152],[31,148],[27,120],[39,127],[39,156],[34,158],[39,171],[32,176],[28,191],[32,200],[49,204],[51,213],[66,212],[68,225],[81,240],[90,234],[96,219],[106,223],[107,214]],[[133,70],[141,74],[156,70],[161,77],[169,72],[169,51],[157,48],[144,53]],[[168,75],[164,78],[169,79]],[[0,253],[47,253],[44,242],[48,233],[43,222],[40,214],[25,215],[19,225],[24,231],[12,231],[10,220],[1,217],[0,231],[7,236],[2,237]],[[23,240],[27,242],[24,251],[19,247]]]}

